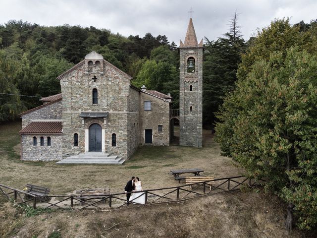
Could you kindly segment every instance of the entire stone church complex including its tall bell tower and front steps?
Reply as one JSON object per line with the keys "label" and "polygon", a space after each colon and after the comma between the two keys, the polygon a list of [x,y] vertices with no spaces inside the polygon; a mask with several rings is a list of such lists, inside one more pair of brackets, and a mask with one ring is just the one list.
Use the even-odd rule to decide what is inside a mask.
{"label": "entire stone church complex including its tall bell tower and front steps", "polygon": [[[179,51],[180,145],[200,147],[203,42],[192,19]],[[169,145],[170,95],[134,87],[96,52],[57,79],[60,94],[20,115],[21,160],[122,164],[140,145]]]}

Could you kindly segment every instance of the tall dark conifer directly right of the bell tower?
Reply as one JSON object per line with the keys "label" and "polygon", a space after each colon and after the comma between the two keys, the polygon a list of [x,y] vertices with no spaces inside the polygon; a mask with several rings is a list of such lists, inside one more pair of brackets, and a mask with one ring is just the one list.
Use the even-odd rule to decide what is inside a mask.
{"label": "tall dark conifer directly right of the bell tower", "polygon": [[232,92],[236,73],[246,44],[237,25],[237,12],[231,19],[230,30],[224,38],[209,41],[205,38],[203,65],[203,122],[210,126],[223,97]]}

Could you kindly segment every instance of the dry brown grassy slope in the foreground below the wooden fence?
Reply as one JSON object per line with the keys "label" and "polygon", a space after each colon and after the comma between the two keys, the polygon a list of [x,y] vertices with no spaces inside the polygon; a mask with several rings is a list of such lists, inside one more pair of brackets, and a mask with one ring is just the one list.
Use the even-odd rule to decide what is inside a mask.
{"label": "dry brown grassy slope in the foreground below the wooden fence", "polygon": [[[10,214],[6,220],[0,218],[4,227],[11,223],[15,209],[10,204],[3,209]],[[289,235],[284,230],[284,207],[276,197],[251,192],[217,194],[177,204],[130,206],[111,212],[57,211],[15,220],[21,220],[22,227],[13,236],[21,238],[44,238],[53,231],[65,238],[309,237],[299,231]]]}

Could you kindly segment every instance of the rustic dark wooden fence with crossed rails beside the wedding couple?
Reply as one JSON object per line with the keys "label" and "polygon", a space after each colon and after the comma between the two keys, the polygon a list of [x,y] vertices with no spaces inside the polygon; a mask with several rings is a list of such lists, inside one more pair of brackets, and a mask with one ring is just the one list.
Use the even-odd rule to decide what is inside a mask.
{"label": "rustic dark wooden fence with crossed rails beside the wedding couple", "polygon": [[[264,180],[261,180],[264,181]],[[138,197],[145,195],[145,204],[157,204],[166,202],[177,202],[188,199],[194,199],[195,197],[204,196],[207,194],[225,193],[239,191],[242,186],[254,187],[261,183],[253,179],[248,179],[242,176],[212,179],[208,181],[202,181],[193,183],[191,185],[185,184],[175,187],[164,187],[159,189],[148,189],[135,192],[140,194]],[[192,189],[190,189],[192,186]],[[98,209],[109,208],[121,208],[127,205],[126,193],[113,193],[113,194],[90,194],[90,195],[47,195],[38,196],[33,195],[27,191],[12,188],[3,184],[0,184],[0,191],[2,195],[9,200],[14,200],[15,204],[27,204],[36,208],[37,205],[44,208],[59,208],[69,209],[74,208],[81,210],[87,207],[94,207]],[[131,200],[130,202],[133,202]],[[103,205],[100,205],[101,203]]]}

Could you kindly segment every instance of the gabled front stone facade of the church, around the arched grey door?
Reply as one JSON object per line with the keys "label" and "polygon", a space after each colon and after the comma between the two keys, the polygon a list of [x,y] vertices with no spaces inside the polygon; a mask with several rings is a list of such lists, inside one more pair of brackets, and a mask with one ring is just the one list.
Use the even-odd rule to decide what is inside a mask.
{"label": "gabled front stone facade of the church, around the arched grey door", "polygon": [[[89,69],[88,62],[102,62],[100,67]],[[97,64],[96,64],[97,65]],[[93,78],[96,77],[97,80]],[[100,124],[105,131],[105,151],[127,158],[128,75],[103,59],[84,60],[60,79],[63,115],[63,158],[84,153],[87,123],[79,117],[81,112],[108,112]],[[98,104],[93,104],[92,90],[98,90]],[[78,133],[78,146],[73,146],[73,135]],[[111,146],[111,135],[116,134],[116,147]]]}

